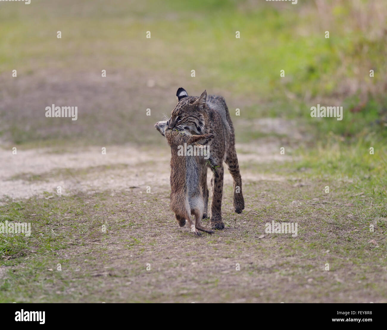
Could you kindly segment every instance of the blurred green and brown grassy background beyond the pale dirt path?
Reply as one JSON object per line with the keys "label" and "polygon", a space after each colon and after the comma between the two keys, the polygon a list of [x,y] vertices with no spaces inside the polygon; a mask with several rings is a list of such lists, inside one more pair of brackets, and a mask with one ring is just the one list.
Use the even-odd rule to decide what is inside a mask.
{"label": "blurred green and brown grassy background beyond the pale dirt path", "polygon": [[[238,143],[382,147],[386,17],[386,2],[360,0],[1,2],[1,143],[164,145],[153,125],[183,86],[226,98]],[[52,103],[77,106],[78,120],[47,119]],[[317,103],[343,106],[343,120],[311,118]]]}

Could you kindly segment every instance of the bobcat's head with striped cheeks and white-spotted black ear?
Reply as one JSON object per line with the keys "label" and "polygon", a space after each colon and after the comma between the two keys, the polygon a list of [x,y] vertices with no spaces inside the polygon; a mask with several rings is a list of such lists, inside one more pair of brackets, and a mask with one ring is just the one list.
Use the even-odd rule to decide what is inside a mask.
{"label": "bobcat's head with striped cheeks and white-spotted black ear", "polygon": [[188,96],[187,91],[180,87],[176,93],[177,104],[167,121],[168,128],[178,131],[187,130],[191,134],[203,134],[205,101],[207,92],[199,97]]}

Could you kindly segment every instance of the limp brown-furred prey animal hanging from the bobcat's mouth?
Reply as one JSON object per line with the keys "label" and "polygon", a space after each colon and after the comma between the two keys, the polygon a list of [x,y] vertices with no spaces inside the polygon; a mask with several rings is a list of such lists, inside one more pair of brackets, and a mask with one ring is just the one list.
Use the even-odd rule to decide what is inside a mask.
{"label": "limp brown-furred prey animal hanging from the bobcat's mouth", "polygon": [[[200,236],[198,230],[213,234],[212,230],[201,226],[204,212],[204,198],[199,178],[203,175],[203,155],[179,155],[178,147],[183,144],[192,144],[199,140],[208,141],[212,134],[191,135],[187,132],[166,129],[166,121],[154,125],[168,141],[171,147],[171,210],[175,213],[180,227],[185,225],[185,220],[191,231]],[[201,145],[199,145],[201,146]],[[202,146],[203,147],[203,146]],[[202,149],[203,150],[203,149]],[[191,222],[191,214],[195,215],[195,225]]]}

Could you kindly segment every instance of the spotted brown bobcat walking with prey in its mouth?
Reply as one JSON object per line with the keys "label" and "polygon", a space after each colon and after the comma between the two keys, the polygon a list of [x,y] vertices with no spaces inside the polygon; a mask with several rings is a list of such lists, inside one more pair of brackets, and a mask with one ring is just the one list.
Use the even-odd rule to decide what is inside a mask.
{"label": "spotted brown bobcat walking with prey in its mouth", "polygon": [[[177,104],[171,112],[166,125],[169,129],[188,131],[191,134],[202,135],[210,133],[214,137],[209,142],[210,155],[204,163],[202,175],[199,178],[204,196],[204,214],[207,217],[208,188],[207,168],[212,171],[211,190],[211,227],[224,229],[222,222],[223,196],[223,162],[233,177],[234,198],[233,206],[236,213],[245,208],[242,194],[242,179],[239,173],[238,157],[235,151],[235,134],[233,123],[228,112],[226,101],[222,96],[209,95],[204,91],[202,95],[188,96],[187,91],[180,87],[176,93]],[[163,133],[161,133],[163,134]]]}

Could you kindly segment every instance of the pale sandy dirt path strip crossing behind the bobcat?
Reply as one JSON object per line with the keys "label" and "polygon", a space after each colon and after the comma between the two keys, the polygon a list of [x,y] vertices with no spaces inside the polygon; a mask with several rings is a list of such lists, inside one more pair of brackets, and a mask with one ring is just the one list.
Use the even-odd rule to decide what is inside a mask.
{"label": "pale sandy dirt path strip crossing behind the bobcat", "polygon": [[[269,163],[289,159],[279,154],[276,143],[238,144],[240,165],[248,162]],[[57,153],[50,148],[0,151],[0,200],[13,200],[43,196],[43,192],[56,193],[61,186],[65,195],[81,192],[130,189],[148,185],[158,189],[169,185],[170,150],[141,151],[134,146],[108,146],[106,155],[100,147],[82,150],[68,149]],[[276,175],[257,175],[243,172],[243,179],[281,180]],[[225,183],[231,183],[225,176]]]}

